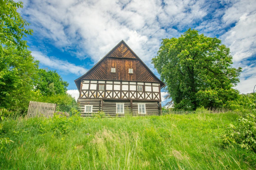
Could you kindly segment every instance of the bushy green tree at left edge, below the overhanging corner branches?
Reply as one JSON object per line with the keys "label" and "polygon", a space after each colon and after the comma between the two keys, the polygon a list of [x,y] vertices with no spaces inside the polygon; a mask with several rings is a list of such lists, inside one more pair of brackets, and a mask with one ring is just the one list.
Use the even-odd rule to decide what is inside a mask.
{"label": "bushy green tree at left edge, below the overhanging corner branches", "polygon": [[5,49],[0,53],[0,107],[25,110],[33,96],[38,61],[26,49]]}

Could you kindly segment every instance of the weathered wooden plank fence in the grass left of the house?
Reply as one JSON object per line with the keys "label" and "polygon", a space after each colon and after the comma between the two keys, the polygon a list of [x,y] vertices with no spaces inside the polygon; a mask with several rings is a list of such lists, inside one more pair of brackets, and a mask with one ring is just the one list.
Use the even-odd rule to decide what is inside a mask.
{"label": "weathered wooden plank fence in the grass left of the house", "polygon": [[52,117],[55,113],[56,104],[44,102],[29,102],[27,117]]}

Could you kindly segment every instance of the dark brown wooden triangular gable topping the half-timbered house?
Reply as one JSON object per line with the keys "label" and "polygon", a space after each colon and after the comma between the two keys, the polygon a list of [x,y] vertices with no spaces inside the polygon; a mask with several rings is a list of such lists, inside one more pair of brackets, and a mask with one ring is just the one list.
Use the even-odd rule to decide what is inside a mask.
{"label": "dark brown wooden triangular gable topping the half-timbered house", "polygon": [[[116,73],[111,73],[111,68],[116,68]],[[133,68],[134,74],[128,74],[129,68]],[[164,86],[123,40],[86,74],[75,80],[78,89],[82,79],[158,82],[161,87]]]}

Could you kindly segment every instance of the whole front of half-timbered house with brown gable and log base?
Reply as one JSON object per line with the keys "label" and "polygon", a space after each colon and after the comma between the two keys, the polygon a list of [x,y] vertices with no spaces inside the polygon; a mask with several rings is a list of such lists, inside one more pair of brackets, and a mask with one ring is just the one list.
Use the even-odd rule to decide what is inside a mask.
{"label": "whole front of half-timbered house with brown gable and log base", "polygon": [[75,80],[83,116],[158,115],[164,83],[122,40],[86,74]]}

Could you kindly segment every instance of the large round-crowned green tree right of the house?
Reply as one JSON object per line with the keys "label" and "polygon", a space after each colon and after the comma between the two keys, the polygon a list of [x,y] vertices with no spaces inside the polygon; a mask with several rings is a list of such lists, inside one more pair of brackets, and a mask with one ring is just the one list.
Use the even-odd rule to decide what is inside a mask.
{"label": "large round-crowned green tree right of the house", "polygon": [[175,108],[225,107],[239,92],[241,68],[232,68],[230,49],[221,40],[198,34],[189,28],[178,38],[163,39],[152,59],[161,80],[167,85]]}

